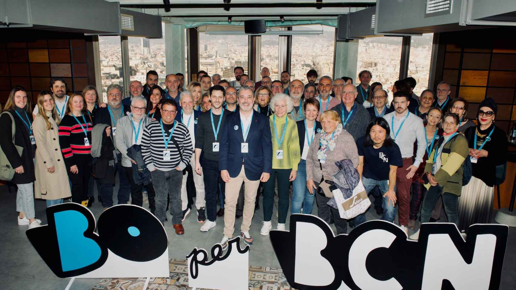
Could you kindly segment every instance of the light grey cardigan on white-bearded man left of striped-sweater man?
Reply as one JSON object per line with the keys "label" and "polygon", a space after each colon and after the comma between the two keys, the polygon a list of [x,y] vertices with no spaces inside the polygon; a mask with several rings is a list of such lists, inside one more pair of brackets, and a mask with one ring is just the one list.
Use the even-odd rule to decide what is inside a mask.
{"label": "light grey cardigan on white-bearded man left of striped-sweater man", "polygon": [[[121,117],[117,122],[117,134],[115,139],[117,141],[117,149],[122,153],[122,166],[131,167],[131,158],[127,156],[127,148],[133,146],[133,125],[131,124],[131,114]],[[141,122],[140,132],[152,121],[148,116],[143,116],[143,122]]]}

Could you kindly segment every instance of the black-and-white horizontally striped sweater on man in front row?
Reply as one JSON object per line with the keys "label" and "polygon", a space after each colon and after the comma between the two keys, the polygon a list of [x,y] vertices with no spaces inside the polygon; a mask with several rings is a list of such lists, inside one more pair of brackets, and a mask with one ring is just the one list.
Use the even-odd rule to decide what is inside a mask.
{"label": "black-and-white horizontally striped sweater on man in front row", "polygon": [[[168,139],[173,126],[163,125],[165,138]],[[172,139],[175,139],[180,148],[174,145]],[[181,150],[183,159],[181,159],[178,149]],[[170,160],[165,160],[164,158],[164,151],[166,150],[170,151]],[[193,147],[188,128],[177,122],[177,126],[175,126],[174,132],[172,133],[172,138],[168,143],[168,148],[165,149],[165,140],[163,140],[163,133],[159,121],[152,121],[145,127],[141,135],[141,155],[143,161],[147,164],[147,168],[151,171],[155,168],[168,171],[178,166],[180,169],[184,169],[190,163],[190,159],[193,155]]]}

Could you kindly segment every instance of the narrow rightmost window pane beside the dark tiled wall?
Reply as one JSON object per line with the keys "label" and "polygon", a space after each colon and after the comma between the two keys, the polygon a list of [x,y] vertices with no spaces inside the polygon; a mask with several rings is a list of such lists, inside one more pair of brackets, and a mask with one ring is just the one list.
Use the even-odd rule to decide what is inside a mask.
{"label": "narrow rightmost window pane beside the dark tiled wall", "polygon": [[418,96],[428,88],[432,40],[433,33],[426,33],[422,36],[413,36],[411,38],[408,76],[416,80],[414,94]]}

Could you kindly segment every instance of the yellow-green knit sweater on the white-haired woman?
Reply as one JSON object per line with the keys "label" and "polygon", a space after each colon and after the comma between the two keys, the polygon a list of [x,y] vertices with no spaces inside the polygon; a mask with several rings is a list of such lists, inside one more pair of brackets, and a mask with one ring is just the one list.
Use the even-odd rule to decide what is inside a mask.
{"label": "yellow-green knit sweater on the white-haired woman", "polygon": [[[299,136],[297,133],[297,125],[291,118],[286,116],[278,117],[276,115],[269,116],[269,126],[272,135],[272,169],[293,169],[297,170],[297,165],[301,160],[301,149],[299,148]],[[276,129],[273,120],[276,121],[276,129],[278,129],[278,139],[281,135],[287,121],[285,137],[281,146],[278,145],[276,138]],[[283,150],[283,159],[277,158],[277,150]]]}

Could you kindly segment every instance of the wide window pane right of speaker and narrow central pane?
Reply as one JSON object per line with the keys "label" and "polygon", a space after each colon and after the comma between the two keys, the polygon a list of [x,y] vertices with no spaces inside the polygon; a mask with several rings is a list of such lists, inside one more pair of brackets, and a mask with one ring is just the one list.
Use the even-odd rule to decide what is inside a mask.
{"label": "wide window pane right of speaker and narrow central pane", "polygon": [[292,36],[291,79],[299,79],[307,83],[307,72],[311,69],[316,70],[319,77],[332,76],[335,28],[301,25],[292,27],[292,30],[323,30],[323,33]]}

